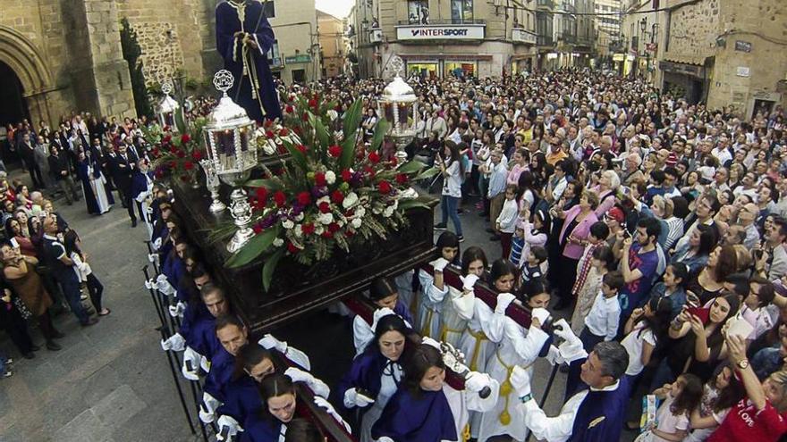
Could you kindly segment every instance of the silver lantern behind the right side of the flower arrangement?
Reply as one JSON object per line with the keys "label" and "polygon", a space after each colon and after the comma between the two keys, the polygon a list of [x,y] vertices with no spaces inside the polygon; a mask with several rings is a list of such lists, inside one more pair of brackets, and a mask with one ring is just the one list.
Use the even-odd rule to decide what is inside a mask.
{"label": "silver lantern behind the right side of the flower arrangement", "polygon": [[396,159],[403,164],[407,161],[404,148],[416,135],[418,98],[410,85],[402,79],[402,71],[404,71],[402,58],[393,55],[390,64],[395,76],[383,89],[383,95],[378,102],[378,113],[380,118],[384,118],[390,124],[385,135],[393,139],[393,143],[396,144]]}

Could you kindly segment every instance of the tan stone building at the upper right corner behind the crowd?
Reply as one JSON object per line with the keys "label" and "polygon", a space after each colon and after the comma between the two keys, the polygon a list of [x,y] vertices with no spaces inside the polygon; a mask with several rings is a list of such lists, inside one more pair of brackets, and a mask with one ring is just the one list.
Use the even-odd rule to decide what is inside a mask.
{"label": "tan stone building at the upper right corner behind the crowd", "polygon": [[623,19],[637,57],[631,74],[645,74],[647,66],[648,78],[664,90],[711,108],[732,105],[746,118],[787,105],[783,0],[662,0],[663,11],[641,13],[651,7],[649,0],[631,0]]}

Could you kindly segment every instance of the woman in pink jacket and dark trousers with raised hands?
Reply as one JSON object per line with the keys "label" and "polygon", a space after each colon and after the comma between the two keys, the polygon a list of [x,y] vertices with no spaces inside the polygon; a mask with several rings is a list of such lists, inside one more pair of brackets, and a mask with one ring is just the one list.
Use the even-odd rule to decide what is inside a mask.
{"label": "woman in pink jacket and dark trousers with raised hands", "polygon": [[592,191],[585,191],[580,197],[580,204],[571,207],[567,212],[559,208],[552,209],[552,216],[562,218],[563,229],[560,230],[561,256],[560,265],[551,271],[560,272],[558,282],[558,296],[560,301],[555,309],[563,310],[571,304],[571,288],[574,279],[577,279],[577,264],[582,257],[582,251],[588,242],[590,226],[598,221],[594,212],[598,207],[598,195]]}

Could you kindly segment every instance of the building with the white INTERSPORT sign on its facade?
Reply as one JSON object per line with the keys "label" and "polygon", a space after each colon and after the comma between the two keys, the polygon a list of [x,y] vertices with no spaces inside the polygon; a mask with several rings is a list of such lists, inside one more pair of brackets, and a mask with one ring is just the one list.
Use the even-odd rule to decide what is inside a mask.
{"label": "building with the white INTERSPORT sign on its facade", "polygon": [[[538,0],[548,13],[552,0]],[[394,54],[408,75],[501,77],[538,63],[533,2],[356,0],[353,29],[362,78],[386,77]],[[527,6],[526,6],[527,5]],[[544,48],[554,47],[552,15]],[[546,55],[546,51],[545,54]]]}

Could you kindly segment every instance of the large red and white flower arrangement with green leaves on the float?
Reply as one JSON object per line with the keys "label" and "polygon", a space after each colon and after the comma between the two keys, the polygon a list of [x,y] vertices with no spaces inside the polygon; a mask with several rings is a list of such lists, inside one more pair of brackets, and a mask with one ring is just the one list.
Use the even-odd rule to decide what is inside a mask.
{"label": "large red and white flower arrangement with green leaves on the float", "polygon": [[380,146],[387,121],[377,124],[369,146],[358,144],[361,102],[351,105],[339,130],[331,130],[336,103],[317,94],[283,99],[283,124],[264,126],[258,146],[283,148],[289,158],[272,172],[265,163],[262,179],[246,183],[254,237],[233,254],[228,267],[240,267],[264,256],[267,290],[284,256],[304,265],[326,261],[336,248],[385,239],[407,225],[404,211],[427,207],[410,187],[436,173],[423,163],[384,158]]}

